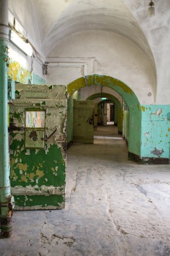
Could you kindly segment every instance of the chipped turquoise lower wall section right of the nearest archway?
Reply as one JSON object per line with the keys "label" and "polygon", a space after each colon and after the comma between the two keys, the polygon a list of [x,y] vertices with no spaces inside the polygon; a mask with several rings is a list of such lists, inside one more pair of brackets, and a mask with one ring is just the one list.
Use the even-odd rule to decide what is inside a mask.
{"label": "chipped turquoise lower wall section right of the nearest archway", "polygon": [[170,105],[142,106],[142,157],[169,158]]}

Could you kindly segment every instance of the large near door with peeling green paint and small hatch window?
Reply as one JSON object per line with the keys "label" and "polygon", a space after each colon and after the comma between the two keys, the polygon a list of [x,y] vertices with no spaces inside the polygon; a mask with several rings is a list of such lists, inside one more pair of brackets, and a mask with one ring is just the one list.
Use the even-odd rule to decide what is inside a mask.
{"label": "large near door with peeling green paint and small hatch window", "polygon": [[16,84],[16,94],[9,128],[15,210],[64,208],[66,87]]}

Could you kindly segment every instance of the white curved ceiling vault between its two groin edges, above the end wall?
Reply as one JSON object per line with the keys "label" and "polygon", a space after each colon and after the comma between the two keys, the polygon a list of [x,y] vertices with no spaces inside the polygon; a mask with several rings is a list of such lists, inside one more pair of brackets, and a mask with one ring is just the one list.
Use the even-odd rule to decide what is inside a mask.
{"label": "white curved ceiling vault between its two groin edges, above the end wall", "polygon": [[[10,0],[9,7],[25,28],[30,25],[26,24],[26,10],[32,12],[32,19],[34,17],[37,23],[34,26],[38,28],[36,33],[40,48],[45,56],[67,36],[87,30],[115,32],[150,55],[150,46],[138,24],[143,18],[142,13],[147,15],[146,0]],[[131,13],[135,9],[140,9],[136,19]]]}

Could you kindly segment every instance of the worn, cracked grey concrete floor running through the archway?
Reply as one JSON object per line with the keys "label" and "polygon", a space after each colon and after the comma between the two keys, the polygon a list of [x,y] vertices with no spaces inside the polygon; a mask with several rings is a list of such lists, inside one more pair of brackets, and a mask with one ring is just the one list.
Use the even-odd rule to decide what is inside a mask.
{"label": "worn, cracked grey concrete floor running through the archway", "polygon": [[0,255],[170,255],[170,167],[128,161],[116,134],[68,150],[65,209],[14,212]]}

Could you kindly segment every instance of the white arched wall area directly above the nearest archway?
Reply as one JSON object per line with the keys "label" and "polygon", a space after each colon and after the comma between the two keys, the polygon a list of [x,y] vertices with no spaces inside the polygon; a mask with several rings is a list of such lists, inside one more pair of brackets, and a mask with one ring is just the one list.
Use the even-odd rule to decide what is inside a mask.
{"label": "white arched wall area directly above the nearest archway", "polygon": [[[76,58],[76,62],[81,58],[92,58],[94,66],[87,68],[85,75],[96,73],[115,77],[134,91],[141,104],[154,104],[156,81],[148,59],[140,48],[118,34],[101,31],[76,33],[57,44],[49,53],[47,61],[53,56],[59,57],[60,62],[67,62],[67,65],[67,58]],[[86,64],[89,65],[88,62]],[[56,74],[60,72],[64,74],[60,77],[60,81],[63,79],[62,84],[71,83],[82,76],[81,67],[77,73],[76,67],[70,70],[63,67],[62,71],[62,67],[56,66],[53,74],[49,73],[47,83],[54,83]]]}

